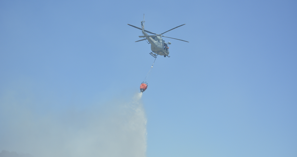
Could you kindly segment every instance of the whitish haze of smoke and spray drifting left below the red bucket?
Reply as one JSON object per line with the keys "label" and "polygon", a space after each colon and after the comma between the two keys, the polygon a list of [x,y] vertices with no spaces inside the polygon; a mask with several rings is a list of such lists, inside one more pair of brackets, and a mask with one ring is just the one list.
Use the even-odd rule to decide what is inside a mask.
{"label": "whitish haze of smoke and spray drifting left below the red bucket", "polygon": [[40,114],[27,107],[34,100],[4,95],[0,98],[0,152],[34,157],[145,157],[146,115],[141,96],[83,111]]}

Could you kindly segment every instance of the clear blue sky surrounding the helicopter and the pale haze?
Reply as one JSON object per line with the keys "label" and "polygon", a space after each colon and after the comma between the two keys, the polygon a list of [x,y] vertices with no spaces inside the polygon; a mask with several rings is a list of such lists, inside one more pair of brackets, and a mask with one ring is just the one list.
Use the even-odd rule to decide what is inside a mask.
{"label": "clear blue sky surrounding the helicopter and the pale haze", "polygon": [[157,57],[142,95],[147,157],[297,156],[296,8],[268,0],[2,0],[0,151],[34,155],[21,149],[25,142],[14,147],[31,133],[24,116],[79,130],[88,118],[77,122],[77,113],[139,93],[155,58],[127,24],[141,27],[145,14],[146,30],[186,24],[164,35],[189,41],[163,38],[170,58]]}

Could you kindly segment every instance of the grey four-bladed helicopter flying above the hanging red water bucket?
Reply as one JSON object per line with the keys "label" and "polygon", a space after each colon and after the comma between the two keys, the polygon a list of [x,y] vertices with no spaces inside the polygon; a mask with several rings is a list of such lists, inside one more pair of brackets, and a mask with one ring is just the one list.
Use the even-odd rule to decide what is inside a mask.
{"label": "grey four-bladed helicopter flying above the hanging red water bucket", "polygon": [[[143,35],[142,36],[139,36],[139,37],[140,38],[144,38],[144,39],[139,40],[139,41],[148,40],[146,42],[148,44],[151,44],[151,51],[152,51],[152,52],[150,52],[150,55],[151,56],[153,56],[155,58],[157,58],[157,55],[161,55],[161,56],[164,56],[164,57],[168,56],[169,55],[169,47],[168,47],[168,45],[170,45],[171,42],[165,43],[165,41],[161,37],[170,38],[170,37],[167,37],[167,36],[163,36],[164,33],[169,32],[170,30],[168,30],[168,31],[166,31],[164,33],[161,33],[161,34],[156,34],[156,33],[153,33],[153,32],[150,32],[150,31],[145,30],[144,29],[144,26],[143,26],[144,22],[145,21],[144,21],[144,14],[143,14],[143,21],[141,21],[141,28],[138,28],[138,27],[133,26],[131,24],[128,24],[128,25],[129,26],[132,26],[134,28],[137,28],[139,30],[142,30],[142,34]],[[183,25],[185,25],[185,24],[182,24],[180,26],[183,26]],[[176,29],[176,28],[178,28],[180,26],[177,26],[177,27],[175,27],[173,29]],[[171,30],[173,30],[173,29],[171,29]],[[150,34],[154,34],[154,35],[147,35],[146,32],[147,33],[150,33]],[[171,39],[175,39],[175,38],[171,38]],[[176,40],[180,40],[180,39],[176,39]],[[180,40],[180,41],[184,41],[184,40]],[[135,42],[138,42],[138,41],[135,41]],[[189,41],[185,41],[185,42],[189,42]],[[168,57],[170,57],[170,56],[168,56]]]}

